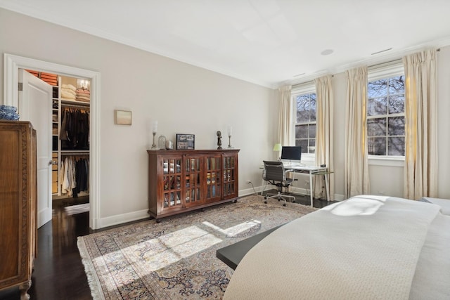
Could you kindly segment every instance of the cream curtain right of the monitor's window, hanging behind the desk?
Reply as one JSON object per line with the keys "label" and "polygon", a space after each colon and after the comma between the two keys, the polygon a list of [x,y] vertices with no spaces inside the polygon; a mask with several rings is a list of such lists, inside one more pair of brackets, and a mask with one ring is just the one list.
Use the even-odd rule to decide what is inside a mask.
{"label": "cream curtain right of the monitor's window, hanging behind the desk", "polygon": [[[333,89],[331,88],[331,77],[326,75],[314,79],[314,83],[316,84],[316,166],[326,164],[328,170],[333,171]],[[315,177],[314,197],[321,197],[323,196],[322,187],[325,186],[323,176]],[[333,174],[329,176],[328,185],[330,197],[333,197],[335,186]]]}

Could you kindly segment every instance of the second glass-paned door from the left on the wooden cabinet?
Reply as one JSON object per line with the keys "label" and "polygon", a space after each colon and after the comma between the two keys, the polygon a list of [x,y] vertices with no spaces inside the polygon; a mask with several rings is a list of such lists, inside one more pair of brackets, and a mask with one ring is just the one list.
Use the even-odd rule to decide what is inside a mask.
{"label": "second glass-paned door from the left on the wooden cabinet", "polygon": [[186,207],[203,201],[201,186],[202,157],[184,159],[184,204]]}

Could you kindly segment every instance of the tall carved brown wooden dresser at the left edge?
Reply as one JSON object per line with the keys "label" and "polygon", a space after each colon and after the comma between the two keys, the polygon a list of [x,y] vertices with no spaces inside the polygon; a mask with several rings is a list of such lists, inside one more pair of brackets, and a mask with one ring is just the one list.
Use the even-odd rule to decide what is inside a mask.
{"label": "tall carved brown wooden dresser at the left edge", "polygon": [[19,286],[28,299],[37,246],[36,131],[0,121],[0,289]]}

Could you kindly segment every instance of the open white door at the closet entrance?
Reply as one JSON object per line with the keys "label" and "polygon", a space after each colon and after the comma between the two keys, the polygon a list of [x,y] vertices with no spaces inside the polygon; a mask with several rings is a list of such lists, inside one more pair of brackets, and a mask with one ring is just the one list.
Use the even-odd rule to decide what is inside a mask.
{"label": "open white door at the closet entrance", "polygon": [[52,87],[25,70],[19,70],[18,113],[20,121],[30,121],[37,135],[37,227],[52,217],[51,148]]}

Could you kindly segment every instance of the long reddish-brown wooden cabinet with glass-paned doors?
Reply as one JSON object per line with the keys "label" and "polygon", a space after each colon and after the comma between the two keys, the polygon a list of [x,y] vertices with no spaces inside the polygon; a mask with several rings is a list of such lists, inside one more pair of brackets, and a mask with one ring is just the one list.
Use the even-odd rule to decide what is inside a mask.
{"label": "long reddish-brown wooden cabinet with glass-paned doors", "polygon": [[239,150],[148,150],[148,214],[165,216],[238,198]]}

